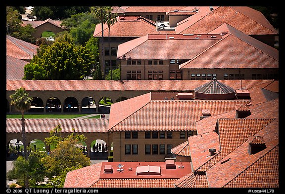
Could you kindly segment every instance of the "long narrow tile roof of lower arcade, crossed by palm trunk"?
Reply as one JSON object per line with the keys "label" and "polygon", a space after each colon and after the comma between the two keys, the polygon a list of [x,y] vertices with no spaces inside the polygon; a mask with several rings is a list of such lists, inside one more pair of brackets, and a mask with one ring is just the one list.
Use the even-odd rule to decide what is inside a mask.
{"label": "long narrow tile roof of lower arcade, crossed by palm trunk", "polygon": [[[60,125],[62,133],[71,133],[72,129],[78,133],[106,133],[108,119],[100,118],[26,118],[25,130],[27,133],[49,133]],[[19,118],[6,119],[6,133],[21,133],[22,124]]]}

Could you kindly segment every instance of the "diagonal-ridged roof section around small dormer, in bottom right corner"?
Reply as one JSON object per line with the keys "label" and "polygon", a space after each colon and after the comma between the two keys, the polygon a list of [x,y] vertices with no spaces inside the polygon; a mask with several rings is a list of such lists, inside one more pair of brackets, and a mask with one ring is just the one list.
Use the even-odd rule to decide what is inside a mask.
{"label": "diagonal-ridged roof section around small dormer, in bottom right corner", "polygon": [[[257,131],[256,135],[263,137],[266,148],[258,153],[249,155],[248,141],[244,141],[235,150],[228,155],[225,155],[225,157],[220,160],[226,160],[225,163],[217,162],[207,170],[209,187],[225,187],[228,183],[237,186],[242,185],[244,187],[253,187],[253,185],[256,187],[278,187],[278,149],[269,154],[272,149],[279,144],[278,123],[278,119],[275,119],[264,128],[261,128],[262,126],[260,125],[259,127],[254,127],[253,130],[252,128],[251,130],[248,130],[249,132],[254,133],[256,132],[255,129],[261,128]],[[231,126],[231,123],[229,123],[228,126]],[[246,133],[248,137],[251,136],[250,133]],[[242,133],[241,136],[246,136],[246,133]],[[240,140],[243,140],[243,137]],[[251,174],[250,172],[253,171],[254,173]],[[263,181],[257,181],[257,183],[251,185],[251,181],[248,180],[256,180],[257,177],[259,180]],[[236,180],[234,180],[235,178]],[[239,183],[235,182],[237,180],[239,180]]]}

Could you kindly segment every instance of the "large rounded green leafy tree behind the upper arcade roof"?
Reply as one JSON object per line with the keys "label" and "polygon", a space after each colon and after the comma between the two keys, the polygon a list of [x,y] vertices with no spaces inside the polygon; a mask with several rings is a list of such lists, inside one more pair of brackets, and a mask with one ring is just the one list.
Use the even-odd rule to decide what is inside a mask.
{"label": "large rounded green leafy tree behind the upper arcade roof", "polygon": [[24,67],[23,79],[83,79],[95,63],[88,48],[75,45],[67,35],[50,45],[41,45],[38,54]]}

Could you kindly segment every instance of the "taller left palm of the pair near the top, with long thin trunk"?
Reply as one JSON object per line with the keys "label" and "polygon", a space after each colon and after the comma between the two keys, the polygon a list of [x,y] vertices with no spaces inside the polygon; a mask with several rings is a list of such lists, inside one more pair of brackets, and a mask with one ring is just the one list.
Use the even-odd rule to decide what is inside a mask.
{"label": "taller left palm of the pair near the top, with long thin trunk", "polygon": [[104,24],[106,23],[106,14],[107,14],[107,10],[111,9],[110,6],[93,6],[90,8],[91,12],[95,14],[95,17],[98,18],[101,21],[101,28],[102,28],[102,41],[101,41],[101,58],[102,58],[102,66],[103,66],[103,78],[105,79],[105,63],[104,63],[104,57],[103,57],[103,53],[104,53],[104,47],[103,47],[103,43],[104,43]]}

